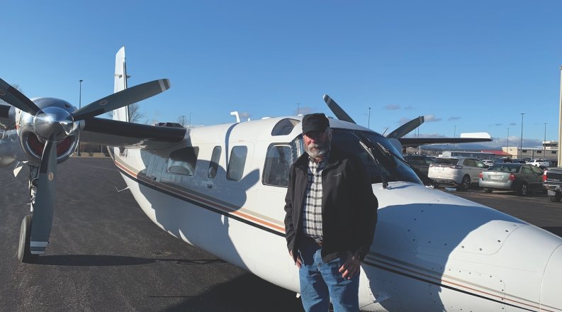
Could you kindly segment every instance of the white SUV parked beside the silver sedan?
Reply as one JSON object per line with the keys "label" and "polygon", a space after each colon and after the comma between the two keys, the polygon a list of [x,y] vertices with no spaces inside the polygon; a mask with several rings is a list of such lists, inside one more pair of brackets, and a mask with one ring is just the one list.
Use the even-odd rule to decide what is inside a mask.
{"label": "white SUV parked beside the silver sedan", "polygon": [[478,183],[478,174],[486,166],[472,157],[441,157],[429,165],[427,176],[439,184],[453,184],[457,189],[468,189]]}

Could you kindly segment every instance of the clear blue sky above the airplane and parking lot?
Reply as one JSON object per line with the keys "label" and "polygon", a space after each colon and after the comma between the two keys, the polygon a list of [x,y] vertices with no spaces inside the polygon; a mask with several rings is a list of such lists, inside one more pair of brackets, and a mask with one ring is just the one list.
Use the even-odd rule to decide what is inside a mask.
{"label": "clear blue sky above the airplane and parking lot", "polygon": [[[84,3],[83,3],[84,2]],[[558,140],[560,1],[3,1],[0,77],[78,106],[169,78],[143,122],[210,125],[313,111],[329,94],[382,133],[488,132],[495,146]],[[369,121],[369,108],[371,120]]]}

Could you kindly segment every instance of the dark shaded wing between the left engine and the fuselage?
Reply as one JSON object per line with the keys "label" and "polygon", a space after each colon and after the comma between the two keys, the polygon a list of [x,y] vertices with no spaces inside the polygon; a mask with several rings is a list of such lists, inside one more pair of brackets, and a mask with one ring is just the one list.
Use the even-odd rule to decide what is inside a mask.
{"label": "dark shaded wing between the left engine and the fuselage", "polygon": [[84,119],[80,141],[125,148],[165,150],[184,140],[186,128],[148,126],[104,118]]}

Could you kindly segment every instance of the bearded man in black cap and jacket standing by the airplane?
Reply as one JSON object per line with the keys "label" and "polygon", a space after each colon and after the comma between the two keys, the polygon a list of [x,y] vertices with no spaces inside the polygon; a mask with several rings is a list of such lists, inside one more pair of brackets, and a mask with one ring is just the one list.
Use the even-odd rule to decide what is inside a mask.
{"label": "bearded man in black cap and jacket standing by the airplane", "polygon": [[373,243],[378,201],[355,155],[332,143],[322,113],[303,117],[305,153],[289,172],[285,230],[305,311],[359,311],[359,272]]}

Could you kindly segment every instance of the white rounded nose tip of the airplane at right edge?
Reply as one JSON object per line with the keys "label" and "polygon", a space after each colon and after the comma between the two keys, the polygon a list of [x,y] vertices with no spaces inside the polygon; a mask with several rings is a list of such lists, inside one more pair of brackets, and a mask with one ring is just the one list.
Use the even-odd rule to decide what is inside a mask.
{"label": "white rounded nose tip of the airplane at right edge", "polygon": [[552,253],[541,285],[541,311],[562,310],[562,245]]}

